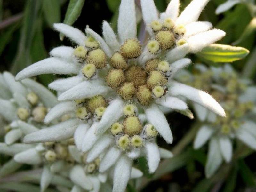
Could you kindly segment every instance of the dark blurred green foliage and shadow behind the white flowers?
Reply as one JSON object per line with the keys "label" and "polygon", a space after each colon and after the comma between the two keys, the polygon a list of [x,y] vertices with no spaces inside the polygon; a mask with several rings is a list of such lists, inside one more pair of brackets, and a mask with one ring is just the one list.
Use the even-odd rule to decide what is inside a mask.
{"label": "dark blurred green foliage and shadow behind the white flowers", "polygon": [[[216,7],[224,1],[211,0],[199,20],[210,21],[214,27],[226,31],[226,37],[218,43],[250,50],[245,59],[235,61],[232,65],[244,76],[256,80],[255,15],[244,4],[216,15]],[[190,0],[180,2],[182,10]],[[163,12],[169,1],[155,0],[155,3],[158,10]],[[102,20],[107,20],[116,30],[119,4],[120,0],[0,0],[0,71],[9,70],[16,74],[28,65],[48,57],[52,48],[62,44],[70,45],[66,38],[52,29],[53,23],[64,22],[80,30],[89,25],[101,34]],[[200,53],[190,57],[194,63],[222,65],[206,60]],[[57,77],[41,75],[37,80],[47,86]],[[207,147],[194,150],[188,145],[197,131],[196,127],[189,129],[193,121],[178,113],[167,117],[171,122],[174,142],[171,146],[161,140],[159,142],[176,156],[164,162],[155,175],[149,175],[145,167],[146,160],[139,159],[138,165],[148,178],[142,181],[142,191],[256,191],[255,154],[244,150],[235,153],[237,161],[224,164],[212,178],[205,179]],[[0,160],[4,161],[2,156]],[[150,183],[149,178],[153,180]],[[0,188],[3,189],[3,186],[0,184]],[[19,187],[13,190],[22,191]],[[128,186],[128,190],[136,191],[132,186]]]}

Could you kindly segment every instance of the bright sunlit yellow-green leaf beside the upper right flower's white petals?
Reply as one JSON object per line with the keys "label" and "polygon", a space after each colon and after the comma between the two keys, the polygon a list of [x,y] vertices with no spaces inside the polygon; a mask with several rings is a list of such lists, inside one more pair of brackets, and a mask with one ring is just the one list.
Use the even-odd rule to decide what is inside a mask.
{"label": "bright sunlit yellow-green leaf beside the upper right flower's white petals", "polygon": [[243,47],[234,47],[230,45],[211,44],[205,47],[197,56],[212,62],[233,62],[241,60],[249,54],[249,50]]}

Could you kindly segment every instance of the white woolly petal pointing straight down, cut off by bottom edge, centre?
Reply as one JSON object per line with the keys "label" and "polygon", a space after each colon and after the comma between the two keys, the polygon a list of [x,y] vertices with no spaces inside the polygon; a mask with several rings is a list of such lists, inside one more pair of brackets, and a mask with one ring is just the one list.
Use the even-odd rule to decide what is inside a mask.
{"label": "white woolly petal pointing straight down, cut off by bottom edge, centre", "polygon": [[130,179],[131,168],[131,159],[127,158],[125,155],[121,156],[115,165],[112,192],[125,191],[127,183]]}

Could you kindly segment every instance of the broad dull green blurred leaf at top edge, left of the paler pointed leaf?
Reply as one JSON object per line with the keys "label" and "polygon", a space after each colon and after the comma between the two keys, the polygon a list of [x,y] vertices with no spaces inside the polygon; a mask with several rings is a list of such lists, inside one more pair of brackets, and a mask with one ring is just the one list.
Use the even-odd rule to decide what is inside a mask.
{"label": "broad dull green blurred leaf at top edge, left of the paler pointed leaf", "polygon": [[60,1],[44,0],[43,12],[47,24],[52,28],[53,23],[60,22]]}

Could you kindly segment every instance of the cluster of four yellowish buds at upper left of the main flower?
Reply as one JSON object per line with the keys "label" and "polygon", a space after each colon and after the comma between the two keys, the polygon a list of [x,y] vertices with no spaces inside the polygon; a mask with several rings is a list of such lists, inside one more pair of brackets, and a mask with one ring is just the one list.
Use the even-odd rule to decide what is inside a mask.
{"label": "cluster of four yellowish buds at upper left of the main flower", "polygon": [[73,54],[79,62],[84,63],[82,73],[90,79],[96,74],[97,69],[106,67],[107,56],[94,38],[88,37],[84,44],[85,46],[76,47]]}

